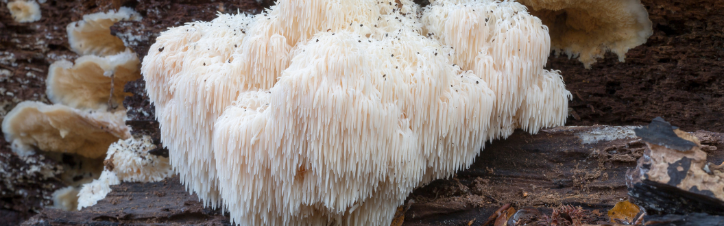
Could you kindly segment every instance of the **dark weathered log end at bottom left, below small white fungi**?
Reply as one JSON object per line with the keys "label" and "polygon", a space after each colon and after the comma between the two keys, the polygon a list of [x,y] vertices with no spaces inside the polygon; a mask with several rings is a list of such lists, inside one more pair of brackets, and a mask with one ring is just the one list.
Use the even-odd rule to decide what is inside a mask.
{"label": "dark weathered log end at bottom left, below small white fungi", "polygon": [[203,208],[178,177],[157,183],[122,183],[83,211],[46,209],[24,225],[230,225],[228,215]]}

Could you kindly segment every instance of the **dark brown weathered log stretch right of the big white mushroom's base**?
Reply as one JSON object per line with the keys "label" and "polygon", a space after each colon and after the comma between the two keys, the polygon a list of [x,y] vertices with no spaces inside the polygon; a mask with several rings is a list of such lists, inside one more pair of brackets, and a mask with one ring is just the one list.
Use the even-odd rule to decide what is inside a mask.
{"label": "dark brown weathered log stretch right of the big white mushroom's base", "polygon": [[[418,188],[406,225],[472,225],[503,204],[534,206],[545,214],[564,204],[605,213],[625,200],[626,170],[644,143],[634,127],[556,127],[536,135],[516,131],[488,143],[470,169]],[[442,208],[444,206],[445,208]],[[605,214],[604,214],[605,215]]]}

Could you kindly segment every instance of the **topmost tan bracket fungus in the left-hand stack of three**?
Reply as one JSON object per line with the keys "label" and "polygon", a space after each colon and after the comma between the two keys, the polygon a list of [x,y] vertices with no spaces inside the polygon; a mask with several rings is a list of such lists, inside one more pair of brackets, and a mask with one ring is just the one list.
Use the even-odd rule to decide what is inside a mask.
{"label": "topmost tan bracket fungus in the left-hand stack of three", "polygon": [[111,35],[111,26],[121,20],[141,19],[138,12],[128,7],[118,11],[98,12],[83,16],[83,20],[71,22],[66,30],[70,49],[80,55],[108,56],[126,49],[120,38]]}

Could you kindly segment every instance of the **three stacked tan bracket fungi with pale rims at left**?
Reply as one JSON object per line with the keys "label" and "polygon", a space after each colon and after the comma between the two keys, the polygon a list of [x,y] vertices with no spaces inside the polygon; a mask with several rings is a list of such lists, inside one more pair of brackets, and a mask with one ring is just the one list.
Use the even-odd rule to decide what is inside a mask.
{"label": "three stacked tan bracket fungi with pale rims at left", "polygon": [[16,153],[33,154],[38,148],[100,158],[111,143],[130,138],[122,105],[130,93],[123,87],[140,78],[140,60],[118,38],[111,37],[120,46],[103,41],[111,40],[106,36],[114,22],[138,17],[121,7],[85,15],[83,21],[68,25],[70,46],[83,56],[75,64],[59,60],[50,65],[46,93],[53,105],[25,101],[4,118],[2,131]]}

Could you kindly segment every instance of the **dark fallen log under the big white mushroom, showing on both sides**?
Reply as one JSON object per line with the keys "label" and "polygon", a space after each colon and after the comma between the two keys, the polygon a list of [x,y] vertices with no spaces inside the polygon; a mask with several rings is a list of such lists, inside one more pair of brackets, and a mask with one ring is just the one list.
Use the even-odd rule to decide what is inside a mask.
{"label": "dark fallen log under the big white mushroom, showing on both sides", "polygon": [[[536,135],[516,131],[487,144],[470,169],[436,180],[408,197],[403,225],[481,225],[502,204],[533,206],[550,214],[563,204],[605,212],[626,196],[626,170],[644,143],[632,127],[557,127]],[[724,159],[724,134],[710,161]],[[713,149],[713,148],[712,148]],[[25,225],[228,225],[227,216],[203,208],[177,177],[159,183],[122,183],[96,206],[80,212],[46,209]],[[599,220],[605,220],[602,217]]]}

